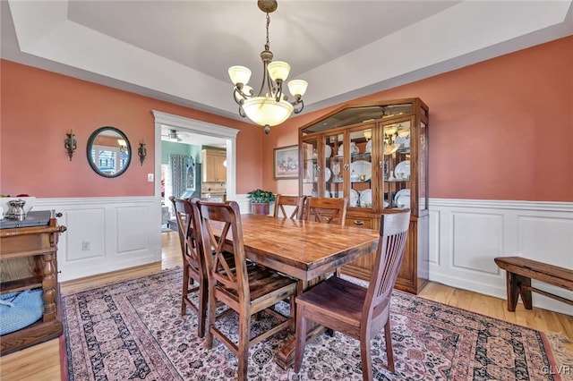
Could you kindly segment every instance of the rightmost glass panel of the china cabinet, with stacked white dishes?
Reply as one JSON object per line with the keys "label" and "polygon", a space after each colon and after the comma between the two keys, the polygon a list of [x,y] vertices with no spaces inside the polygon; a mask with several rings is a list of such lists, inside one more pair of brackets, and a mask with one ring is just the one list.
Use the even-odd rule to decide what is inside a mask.
{"label": "rightmost glass panel of the china cabinet, with stacked white dishes", "polygon": [[383,207],[404,209],[412,207],[411,146],[414,118],[381,123],[383,155]]}

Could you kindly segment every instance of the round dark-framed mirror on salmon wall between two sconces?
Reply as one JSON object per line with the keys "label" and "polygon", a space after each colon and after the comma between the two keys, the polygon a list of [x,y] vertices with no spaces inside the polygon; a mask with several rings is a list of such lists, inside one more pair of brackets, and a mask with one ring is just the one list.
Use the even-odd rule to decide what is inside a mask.
{"label": "round dark-framed mirror on salmon wall between two sconces", "polygon": [[117,177],[132,161],[132,146],[115,127],[98,128],[88,140],[88,161],[97,174]]}

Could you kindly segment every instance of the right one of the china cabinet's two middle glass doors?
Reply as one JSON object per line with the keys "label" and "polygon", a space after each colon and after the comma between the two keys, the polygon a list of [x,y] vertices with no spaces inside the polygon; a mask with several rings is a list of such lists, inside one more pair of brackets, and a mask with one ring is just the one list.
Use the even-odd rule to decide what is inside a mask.
{"label": "right one of the china cabinet's two middle glass doors", "polygon": [[364,124],[349,131],[349,167],[350,207],[372,208],[372,179],[375,179],[376,168],[372,166],[372,133],[375,124]]}

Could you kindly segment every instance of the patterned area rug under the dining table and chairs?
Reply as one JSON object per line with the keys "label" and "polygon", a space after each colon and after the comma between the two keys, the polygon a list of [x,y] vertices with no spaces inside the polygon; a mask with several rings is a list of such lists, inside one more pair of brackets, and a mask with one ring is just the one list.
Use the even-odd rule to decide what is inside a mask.
{"label": "patterned area rug under the dining table and chairs", "polygon": [[[64,297],[70,380],[232,380],[236,358],[196,337],[194,313],[180,314],[177,268]],[[280,303],[280,309],[288,309]],[[254,322],[268,326],[272,317]],[[377,380],[563,380],[545,334],[463,309],[394,292],[391,309],[396,372],[386,368],[383,334],[372,340]],[[230,314],[221,326],[236,332]],[[362,380],[354,339],[322,334],[307,343],[303,368],[284,370],[273,356],[288,333],[249,351],[250,380]],[[565,359],[571,364],[571,359]]]}

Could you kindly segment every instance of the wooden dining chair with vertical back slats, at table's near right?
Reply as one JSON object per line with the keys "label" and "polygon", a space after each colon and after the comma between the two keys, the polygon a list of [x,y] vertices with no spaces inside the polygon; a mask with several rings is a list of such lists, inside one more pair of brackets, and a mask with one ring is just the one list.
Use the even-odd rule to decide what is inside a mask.
{"label": "wooden dining chair with vertical back slats, at table's near right", "polygon": [[380,239],[368,288],[332,276],[296,297],[296,373],[303,363],[308,320],[360,341],[363,380],[372,380],[370,342],[384,328],[388,368],[394,372],[390,301],[406,249],[409,222],[409,209],[382,216]]}

